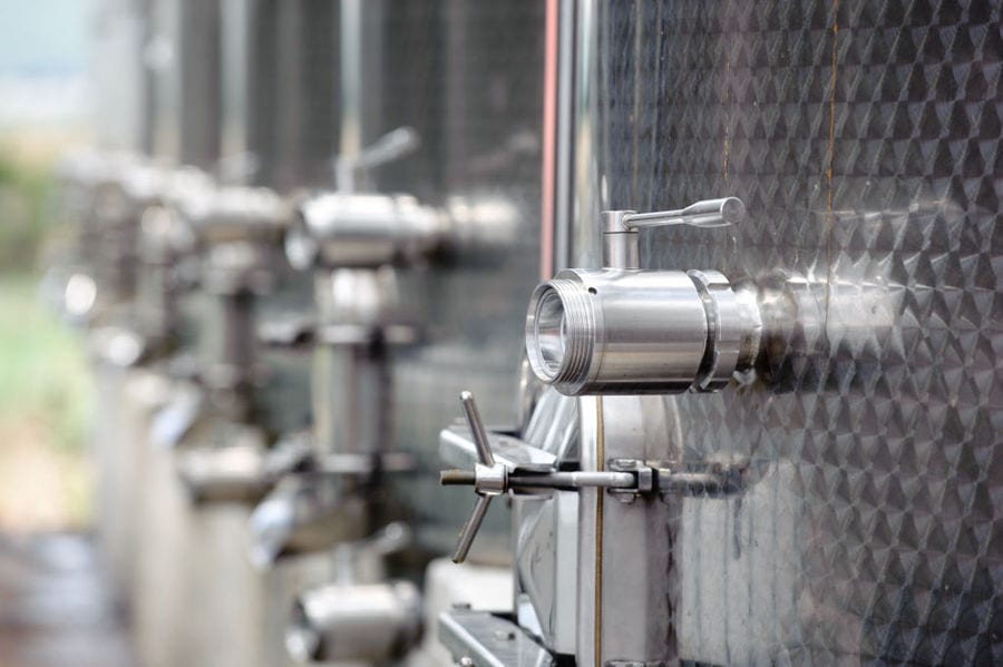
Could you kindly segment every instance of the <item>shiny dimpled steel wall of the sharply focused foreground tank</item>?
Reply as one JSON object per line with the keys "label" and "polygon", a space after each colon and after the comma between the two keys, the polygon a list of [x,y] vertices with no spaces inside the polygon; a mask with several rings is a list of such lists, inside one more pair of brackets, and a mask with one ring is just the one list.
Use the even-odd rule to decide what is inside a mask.
{"label": "shiny dimpled steel wall of the sharply focused foreground tank", "polygon": [[642,265],[816,306],[756,381],[665,399],[675,455],[748,461],[738,497],[673,501],[673,654],[1000,664],[1000,3],[592,8],[576,265],[602,208],[738,196],[744,224],[645,233]]}

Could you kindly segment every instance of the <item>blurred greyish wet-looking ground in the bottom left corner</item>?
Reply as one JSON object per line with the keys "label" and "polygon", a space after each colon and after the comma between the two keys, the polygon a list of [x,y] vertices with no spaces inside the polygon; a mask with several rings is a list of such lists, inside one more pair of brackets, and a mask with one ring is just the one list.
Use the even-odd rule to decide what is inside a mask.
{"label": "blurred greyish wet-looking ground in the bottom left corner", "polygon": [[82,533],[0,533],[0,667],[135,667]]}

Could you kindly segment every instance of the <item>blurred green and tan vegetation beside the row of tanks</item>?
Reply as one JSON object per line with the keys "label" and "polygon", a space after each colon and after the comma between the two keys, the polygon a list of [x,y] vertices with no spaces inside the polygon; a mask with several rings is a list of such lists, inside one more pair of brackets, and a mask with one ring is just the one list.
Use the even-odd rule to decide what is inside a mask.
{"label": "blurred green and tan vegetation beside the row of tanks", "polygon": [[92,386],[85,343],[39,295],[59,137],[0,137],[0,527],[61,529],[90,518],[85,444]]}

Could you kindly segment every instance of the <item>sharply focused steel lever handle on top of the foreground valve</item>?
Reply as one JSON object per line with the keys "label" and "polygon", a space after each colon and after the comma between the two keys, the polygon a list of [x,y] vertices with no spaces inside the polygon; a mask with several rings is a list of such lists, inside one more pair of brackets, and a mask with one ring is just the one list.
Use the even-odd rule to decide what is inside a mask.
{"label": "sharply focused steel lever handle on top of the foreground valve", "polygon": [[602,215],[603,267],[641,268],[641,229],[670,225],[723,227],[739,223],[746,215],[746,205],[738,197],[722,197],[675,210],[604,210]]}

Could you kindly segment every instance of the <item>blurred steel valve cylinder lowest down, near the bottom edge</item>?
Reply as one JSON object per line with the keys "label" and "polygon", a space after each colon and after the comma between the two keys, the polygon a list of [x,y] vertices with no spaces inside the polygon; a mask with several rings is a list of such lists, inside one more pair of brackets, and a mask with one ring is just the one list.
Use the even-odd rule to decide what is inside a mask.
{"label": "blurred steel valve cylinder lowest down, near the bottom edge", "polygon": [[409,581],[332,585],[300,596],[285,635],[300,661],[384,663],[421,635],[421,598]]}

